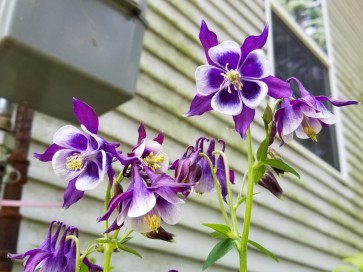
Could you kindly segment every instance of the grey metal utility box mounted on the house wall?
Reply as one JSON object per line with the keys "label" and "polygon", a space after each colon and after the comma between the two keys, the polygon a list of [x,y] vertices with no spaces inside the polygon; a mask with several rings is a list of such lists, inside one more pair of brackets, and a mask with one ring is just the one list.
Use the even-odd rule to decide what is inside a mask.
{"label": "grey metal utility box mounted on the house wall", "polygon": [[135,93],[146,0],[0,0],[0,97],[74,121]]}

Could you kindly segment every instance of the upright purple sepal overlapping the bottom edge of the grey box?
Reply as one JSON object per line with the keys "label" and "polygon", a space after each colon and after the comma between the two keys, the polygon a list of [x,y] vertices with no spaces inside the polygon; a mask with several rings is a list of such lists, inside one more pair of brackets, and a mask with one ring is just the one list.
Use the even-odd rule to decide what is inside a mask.
{"label": "upright purple sepal overlapping the bottom edge of the grey box", "polygon": [[98,116],[91,106],[73,98],[73,113],[78,122],[84,125],[89,132],[94,134],[98,132]]}

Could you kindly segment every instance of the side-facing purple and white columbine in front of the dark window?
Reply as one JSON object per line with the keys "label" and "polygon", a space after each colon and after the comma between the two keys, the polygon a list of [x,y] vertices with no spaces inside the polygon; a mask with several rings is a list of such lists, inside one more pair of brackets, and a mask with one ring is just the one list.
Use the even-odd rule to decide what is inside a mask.
{"label": "side-facing purple and white columbine in front of the dark window", "polygon": [[336,122],[334,114],[325,107],[324,101],[337,107],[358,104],[358,101],[353,100],[342,101],[326,96],[313,96],[298,79],[289,78],[288,81],[297,83],[301,97],[285,98],[275,113],[275,131],[279,134],[282,144],[290,143],[294,132],[298,138],[317,141],[316,135],[322,127]]}

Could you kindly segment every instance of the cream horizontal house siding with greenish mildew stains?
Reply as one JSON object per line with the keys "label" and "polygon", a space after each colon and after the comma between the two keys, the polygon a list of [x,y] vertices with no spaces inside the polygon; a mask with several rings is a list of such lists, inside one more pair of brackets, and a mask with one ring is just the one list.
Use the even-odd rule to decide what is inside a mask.
{"label": "cream horizontal house siding with greenish mildew stains", "polygon": [[[363,50],[359,0],[329,0],[328,14],[335,59],[336,93],[339,98],[363,100]],[[182,114],[196,90],[195,68],[205,63],[198,41],[199,24],[205,19],[218,33],[219,40],[241,42],[247,35],[258,34],[265,24],[262,0],[152,0],[148,3],[149,29],[144,39],[137,95],[130,102],[101,116],[100,130],[106,138],[121,142],[128,152],[137,139],[140,121],[145,122],[151,137],[159,131],[166,135],[165,149],[171,161],[177,159],[187,145],[206,135],[227,142],[228,158],[237,174],[234,191],[238,193],[243,171],[247,168],[246,143],[234,132],[231,118],[215,112],[200,117],[184,118]],[[71,101],[70,101],[71,103]],[[263,137],[263,127],[256,114],[252,127],[254,144]],[[280,259],[251,249],[249,271],[316,272],[329,271],[342,257],[363,251],[363,123],[362,106],[341,111],[347,171],[339,173],[301,145],[294,143],[280,149],[283,158],[300,174],[298,180],[285,175],[280,184],[284,200],[278,200],[257,187],[252,216],[251,239],[263,244]],[[36,113],[32,129],[30,154],[41,152],[51,143],[52,135],[66,123]],[[62,201],[66,183],[55,177],[50,164],[31,161],[29,181],[23,199]],[[118,169],[119,170],[119,169]],[[96,218],[102,214],[105,187],[87,192],[69,210],[23,208],[18,243],[19,252],[39,244],[51,220],[63,220],[81,230],[87,241],[102,233]],[[115,271],[201,271],[203,260],[216,243],[201,223],[222,222],[214,194],[192,195],[183,206],[180,224],[168,227],[175,233],[176,243],[148,240],[134,234],[131,243],[143,258],[115,254]],[[239,212],[242,224],[243,211]],[[83,248],[86,243],[83,242]],[[237,271],[238,255],[232,252],[210,268],[210,271]],[[15,265],[14,271],[21,271]]]}

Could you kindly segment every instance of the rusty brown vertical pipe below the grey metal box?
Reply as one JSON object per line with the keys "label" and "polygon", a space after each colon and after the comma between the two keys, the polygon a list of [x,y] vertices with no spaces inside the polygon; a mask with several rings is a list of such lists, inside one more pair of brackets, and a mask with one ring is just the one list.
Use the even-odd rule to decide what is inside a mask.
{"label": "rusty brown vertical pipe below the grey metal box", "polygon": [[[4,187],[3,199],[20,200],[23,185],[27,182],[28,151],[30,144],[33,111],[26,106],[18,106],[13,135],[15,148],[12,150],[7,163],[21,176],[18,182],[8,183]],[[11,175],[15,173],[7,173]],[[21,222],[19,207],[0,207],[0,271],[10,272],[12,261],[6,258],[7,253],[15,253],[18,243]]]}

